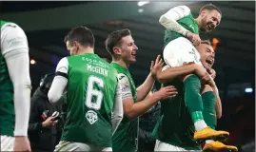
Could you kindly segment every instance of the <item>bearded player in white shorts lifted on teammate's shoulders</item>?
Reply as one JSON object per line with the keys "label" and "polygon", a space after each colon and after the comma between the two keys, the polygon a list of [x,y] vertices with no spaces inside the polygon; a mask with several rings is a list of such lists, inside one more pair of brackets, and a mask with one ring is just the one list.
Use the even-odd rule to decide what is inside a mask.
{"label": "bearded player in white shorts lifted on teammate's shoulders", "polygon": [[[221,22],[221,17],[221,10],[211,4],[203,7],[195,19],[187,6],[175,7],[163,14],[159,22],[167,28],[163,52],[167,66],[183,66],[191,62],[202,65],[200,54],[194,47],[201,42],[199,31],[209,32],[216,28]],[[208,127],[204,120],[200,78],[194,74],[187,74],[182,80],[185,85],[185,102],[196,130],[194,139],[226,139],[228,132],[215,131]],[[211,79],[208,84],[212,85],[213,80]]]}

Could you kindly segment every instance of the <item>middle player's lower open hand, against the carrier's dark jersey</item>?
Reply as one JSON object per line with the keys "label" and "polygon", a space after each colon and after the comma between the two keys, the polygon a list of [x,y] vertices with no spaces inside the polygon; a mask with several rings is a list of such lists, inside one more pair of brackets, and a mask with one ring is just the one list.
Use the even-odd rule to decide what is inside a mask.
{"label": "middle player's lower open hand, against the carrier's dark jersey", "polygon": [[156,91],[154,94],[156,95],[156,97],[159,98],[159,100],[162,100],[162,99],[165,100],[170,97],[175,97],[178,94],[178,91],[174,86],[169,85],[166,87],[162,87],[160,90]]}

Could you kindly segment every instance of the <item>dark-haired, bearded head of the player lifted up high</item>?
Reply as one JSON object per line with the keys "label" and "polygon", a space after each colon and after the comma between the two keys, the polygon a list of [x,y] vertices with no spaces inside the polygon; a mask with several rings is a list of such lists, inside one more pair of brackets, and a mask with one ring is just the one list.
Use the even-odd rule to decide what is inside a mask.
{"label": "dark-haired, bearded head of the player lifted up high", "polygon": [[200,30],[208,32],[221,23],[222,12],[216,6],[207,4],[200,10],[198,17],[201,20]]}

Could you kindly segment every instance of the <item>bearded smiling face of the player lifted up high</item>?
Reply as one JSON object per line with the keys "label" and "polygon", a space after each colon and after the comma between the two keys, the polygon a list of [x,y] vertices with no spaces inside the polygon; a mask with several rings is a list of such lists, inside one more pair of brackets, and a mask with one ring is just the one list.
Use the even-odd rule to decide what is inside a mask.
{"label": "bearded smiling face of the player lifted up high", "polygon": [[203,26],[200,28],[201,31],[209,32],[216,28],[221,22],[221,14],[217,10],[206,10],[202,18]]}

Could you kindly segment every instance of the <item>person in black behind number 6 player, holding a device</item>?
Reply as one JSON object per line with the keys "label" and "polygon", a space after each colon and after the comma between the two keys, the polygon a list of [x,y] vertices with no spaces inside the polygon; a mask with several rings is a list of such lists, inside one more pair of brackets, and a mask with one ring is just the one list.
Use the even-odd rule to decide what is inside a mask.
{"label": "person in black behind number 6 player, holding a device", "polygon": [[[53,151],[61,137],[65,117],[63,105],[50,104],[47,96],[53,78],[54,74],[47,74],[31,98],[29,138],[31,150],[35,152]],[[65,102],[64,98],[61,100]]]}

